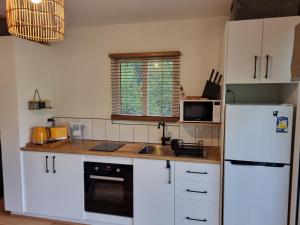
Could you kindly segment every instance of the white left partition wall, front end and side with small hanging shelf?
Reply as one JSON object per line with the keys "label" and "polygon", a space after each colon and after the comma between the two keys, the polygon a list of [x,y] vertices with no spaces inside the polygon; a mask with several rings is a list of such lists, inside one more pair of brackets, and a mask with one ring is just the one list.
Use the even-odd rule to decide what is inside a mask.
{"label": "white left partition wall, front end and side with small hanging shelf", "polygon": [[30,141],[30,129],[46,124],[52,111],[30,111],[35,88],[52,99],[50,48],[13,37],[0,38],[0,131],[5,209],[22,212],[20,147]]}

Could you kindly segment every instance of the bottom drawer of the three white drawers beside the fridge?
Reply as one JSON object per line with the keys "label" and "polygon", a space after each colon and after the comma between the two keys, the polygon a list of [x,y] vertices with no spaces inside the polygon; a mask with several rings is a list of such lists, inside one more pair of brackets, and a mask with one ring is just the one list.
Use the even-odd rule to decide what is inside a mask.
{"label": "bottom drawer of the three white drawers beside the fridge", "polygon": [[219,204],[175,199],[175,225],[219,225]]}

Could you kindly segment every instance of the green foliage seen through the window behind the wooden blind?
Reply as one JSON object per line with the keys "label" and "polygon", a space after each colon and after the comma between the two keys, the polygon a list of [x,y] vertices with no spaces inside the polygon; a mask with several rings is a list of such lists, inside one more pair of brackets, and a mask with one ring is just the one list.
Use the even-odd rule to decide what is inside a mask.
{"label": "green foliage seen through the window behind the wooden blind", "polygon": [[173,62],[122,62],[121,113],[172,116]]}

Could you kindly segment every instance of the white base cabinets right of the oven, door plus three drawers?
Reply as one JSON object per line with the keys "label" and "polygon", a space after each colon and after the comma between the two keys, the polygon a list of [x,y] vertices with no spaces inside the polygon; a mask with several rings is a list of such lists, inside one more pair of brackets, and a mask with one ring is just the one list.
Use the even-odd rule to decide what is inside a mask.
{"label": "white base cabinets right of the oven, door plus three drawers", "polygon": [[134,159],[134,225],[220,225],[220,165],[169,163]]}

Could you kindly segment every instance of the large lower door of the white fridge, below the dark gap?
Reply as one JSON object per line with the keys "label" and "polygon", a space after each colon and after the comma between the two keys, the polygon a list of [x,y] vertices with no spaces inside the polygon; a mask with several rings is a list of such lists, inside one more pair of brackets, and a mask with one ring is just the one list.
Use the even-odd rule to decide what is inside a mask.
{"label": "large lower door of the white fridge, below the dark gap", "polygon": [[224,225],[287,225],[289,172],[226,161]]}

